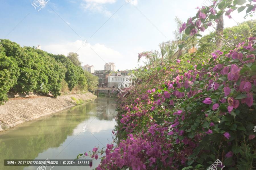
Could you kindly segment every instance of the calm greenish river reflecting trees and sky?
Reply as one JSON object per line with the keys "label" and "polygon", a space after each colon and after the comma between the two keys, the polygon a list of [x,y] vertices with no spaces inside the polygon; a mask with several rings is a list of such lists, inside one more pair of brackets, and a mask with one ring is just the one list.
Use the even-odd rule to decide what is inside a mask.
{"label": "calm greenish river reflecting trees and sky", "polygon": [[[38,166],[4,166],[4,159],[75,159],[96,146],[113,142],[115,100],[97,98],[0,132],[0,169],[36,170]],[[86,125],[86,128],[83,127]],[[87,159],[90,159],[89,157]],[[52,170],[94,169],[93,166],[54,166]],[[51,166],[52,167],[52,166]],[[51,167],[47,166],[47,170]]]}

